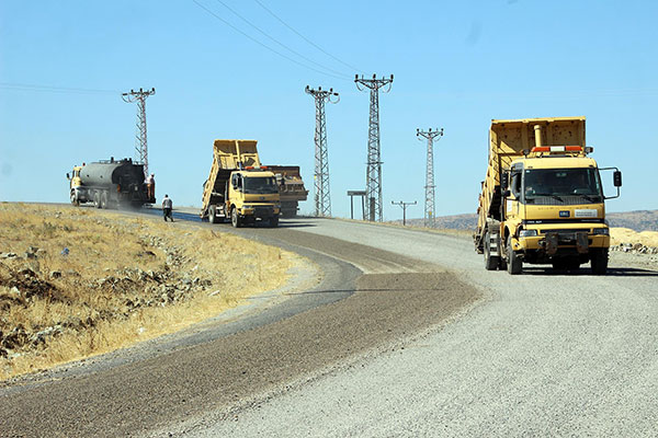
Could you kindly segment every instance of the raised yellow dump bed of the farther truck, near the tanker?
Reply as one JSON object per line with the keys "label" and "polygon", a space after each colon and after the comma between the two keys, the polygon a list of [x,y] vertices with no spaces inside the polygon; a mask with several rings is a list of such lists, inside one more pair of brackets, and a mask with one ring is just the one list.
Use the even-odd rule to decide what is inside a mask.
{"label": "raised yellow dump bed of the farther truck, near the tanker", "polygon": [[203,188],[201,216],[207,216],[211,204],[224,200],[226,182],[231,171],[260,165],[257,140],[215,140],[213,165]]}

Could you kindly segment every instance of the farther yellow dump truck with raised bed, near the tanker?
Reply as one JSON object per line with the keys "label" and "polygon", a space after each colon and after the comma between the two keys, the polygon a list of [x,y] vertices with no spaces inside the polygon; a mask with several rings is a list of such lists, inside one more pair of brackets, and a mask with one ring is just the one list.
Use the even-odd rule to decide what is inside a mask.
{"label": "farther yellow dump truck with raised bed, near the tanker", "polygon": [[274,173],[261,165],[256,145],[256,140],[215,140],[202,220],[230,219],[236,228],[257,220],[279,226],[279,185]]}

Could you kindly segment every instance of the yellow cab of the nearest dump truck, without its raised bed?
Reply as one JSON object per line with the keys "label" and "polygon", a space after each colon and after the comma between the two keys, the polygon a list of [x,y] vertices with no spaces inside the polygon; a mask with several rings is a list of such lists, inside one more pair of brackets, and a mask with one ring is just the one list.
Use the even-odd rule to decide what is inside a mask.
{"label": "yellow cab of the nearest dump truck, without its raised bed", "polygon": [[[610,231],[599,168],[586,154],[591,148],[533,148],[502,177],[501,242],[514,270],[520,263],[576,269],[591,262],[597,274],[608,267]],[[615,175],[621,185],[621,174]]]}

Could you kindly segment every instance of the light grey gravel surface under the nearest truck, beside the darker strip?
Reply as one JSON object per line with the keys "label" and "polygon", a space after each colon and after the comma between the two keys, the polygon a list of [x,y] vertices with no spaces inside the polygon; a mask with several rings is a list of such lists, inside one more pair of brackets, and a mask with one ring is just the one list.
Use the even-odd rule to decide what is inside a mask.
{"label": "light grey gravel surface under the nearest truck, beside the darker strip", "polygon": [[[402,347],[336,368],[190,437],[658,436],[658,272],[486,272],[468,240],[315,220],[305,231],[436,263],[485,302]],[[157,434],[156,434],[157,435]]]}

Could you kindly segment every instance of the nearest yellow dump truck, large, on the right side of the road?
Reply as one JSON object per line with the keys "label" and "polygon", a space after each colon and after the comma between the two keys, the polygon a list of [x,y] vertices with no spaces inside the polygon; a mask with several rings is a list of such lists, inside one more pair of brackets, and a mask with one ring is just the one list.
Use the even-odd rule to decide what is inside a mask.
{"label": "nearest yellow dump truck, large, on the right side of the road", "polygon": [[[523,264],[605,274],[610,233],[604,200],[622,173],[599,169],[586,147],[585,117],[491,120],[475,249],[485,268],[521,274]],[[599,171],[614,171],[606,197]]]}

